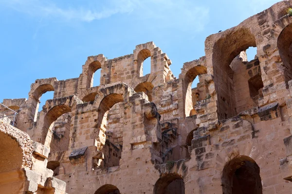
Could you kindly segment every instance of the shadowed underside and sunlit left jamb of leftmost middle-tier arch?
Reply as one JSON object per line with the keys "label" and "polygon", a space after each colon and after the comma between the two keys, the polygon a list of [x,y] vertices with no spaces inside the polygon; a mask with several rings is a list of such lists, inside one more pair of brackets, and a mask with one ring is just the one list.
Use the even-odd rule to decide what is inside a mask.
{"label": "shadowed underside and sunlit left jamb of leftmost middle-tier arch", "polygon": [[[64,113],[71,112],[71,108],[67,105],[56,105],[44,117],[44,125],[42,128],[42,144],[49,147],[51,144],[52,136],[54,131],[52,130],[54,127],[55,120]],[[57,146],[58,149],[61,148],[62,145]]]}

